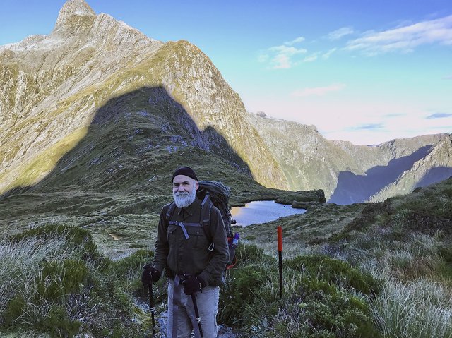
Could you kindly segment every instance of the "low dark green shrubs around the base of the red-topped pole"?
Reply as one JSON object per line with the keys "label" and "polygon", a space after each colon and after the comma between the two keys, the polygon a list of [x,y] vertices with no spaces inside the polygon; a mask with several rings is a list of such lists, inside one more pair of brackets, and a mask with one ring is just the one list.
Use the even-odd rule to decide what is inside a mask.
{"label": "low dark green shrubs around the base of the red-topped pole", "polygon": [[[363,289],[376,294],[379,286],[372,277],[338,260],[300,256],[285,267],[284,295],[280,298],[276,260],[251,245],[241,246],[239,257],[244,253],[251,253],[251,260],[246,254],[246,262],[241,260],[240,267],[230,272],[220,294],[220,320],[241,327],[243,337],[379,337],[370,298],[356,296],[359,290],[347,291],[342,287],[344,282],[328,272],[340,267],[343,276],[353,282],[367,279],[370,286],[363,284]],[[322,265],[326,260],[331,270]],[[302,261],[309,264],[310,272],[299,271]]]}

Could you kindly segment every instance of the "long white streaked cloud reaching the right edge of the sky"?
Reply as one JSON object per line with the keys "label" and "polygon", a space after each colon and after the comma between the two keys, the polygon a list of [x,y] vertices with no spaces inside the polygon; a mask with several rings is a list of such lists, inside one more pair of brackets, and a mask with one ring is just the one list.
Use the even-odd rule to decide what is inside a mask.
{"label": "long white streaked cloud reaching the right edge of the sky", "polygon": [[363,37],[347,42],[346,49],[376,55],[386,52],[412,52],[415,47],[433,43],[452,46],[452,16],[383,32],[367,32]]}

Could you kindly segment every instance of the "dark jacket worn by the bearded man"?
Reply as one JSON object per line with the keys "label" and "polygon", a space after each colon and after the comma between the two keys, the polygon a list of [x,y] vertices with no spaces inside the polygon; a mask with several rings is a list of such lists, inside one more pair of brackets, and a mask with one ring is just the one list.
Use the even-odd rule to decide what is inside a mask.
{"label": "dark jacket worn by the bearded man", "polygon": [[[224,283],[222,275],[229,261],[229,251],[225,226],[216,207],[210,210],[209,231],[201,226],[184,225],[186,234],[180,225],[169,224],[165,205],[160,212],[155,257],[153,267],[174,278],[175,274],[197,274],[207,285],[220,286]],[[171,221],[199,224],[201,219],[201,201],[196,198],[186,208],[175,207]],[[186,239],[188,235],[188,239]],[[209,238],[208,236],[212,236]],[[213,243],[213,251],[208,248]]]}

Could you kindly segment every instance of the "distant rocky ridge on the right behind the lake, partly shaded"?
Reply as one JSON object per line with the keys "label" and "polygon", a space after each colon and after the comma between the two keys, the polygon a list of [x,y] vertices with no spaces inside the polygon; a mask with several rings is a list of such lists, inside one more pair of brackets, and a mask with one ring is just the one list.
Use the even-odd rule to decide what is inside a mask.
{"label": "distant rocky ridge on the right behind the lake, partly shaded", "polygon": [[383,200],[452,175],[448,134],[365,146],[326,140],[315,126],[265,114],[248,114],[248,119],[283,169],[288,187],[321,188],[330,203]]}

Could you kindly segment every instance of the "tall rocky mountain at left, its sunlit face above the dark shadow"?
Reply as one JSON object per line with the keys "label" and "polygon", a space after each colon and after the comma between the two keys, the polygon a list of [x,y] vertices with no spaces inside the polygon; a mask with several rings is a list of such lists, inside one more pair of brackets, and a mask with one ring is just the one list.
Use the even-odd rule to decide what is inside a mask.
{"label": "tall rocky mountain at left, its sunlit face above the dark shadow", "polygon": [[112,118],[114,109],[104,109],[95,119],[100,108],[142,88],[156,89],[147,101],[179,119],[189,144],[267,186],[285,186],[278,164],[246,123],[237,93],[189,42],[150,39],[71,0],[50,35],[1,47],[0,60],[1,192],[40,181],[90,126]]}

